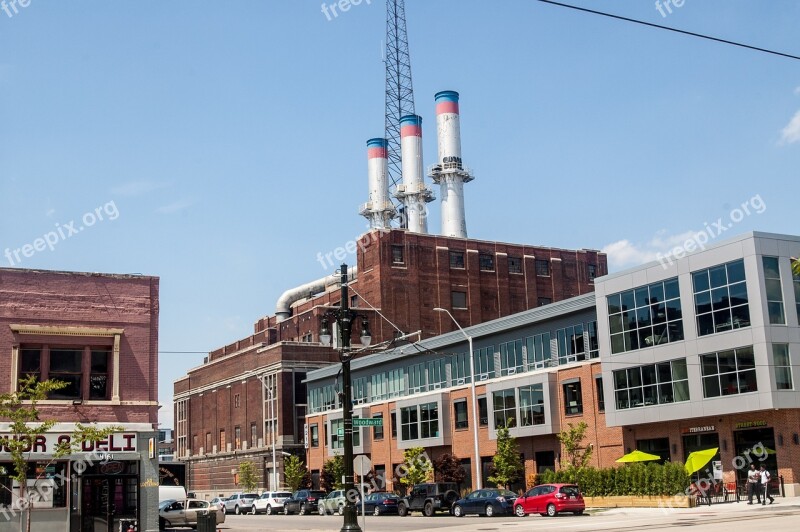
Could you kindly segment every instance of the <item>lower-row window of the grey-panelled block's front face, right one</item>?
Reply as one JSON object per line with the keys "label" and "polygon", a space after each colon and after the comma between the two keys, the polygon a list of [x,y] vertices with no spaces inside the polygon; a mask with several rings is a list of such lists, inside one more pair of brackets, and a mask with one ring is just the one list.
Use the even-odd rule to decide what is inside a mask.
{"label": "lower-row window of the grey-panelled block's front face, right one", "polygon": [[752,346],[701,355],[700,367],[704,397],[758,391]]}

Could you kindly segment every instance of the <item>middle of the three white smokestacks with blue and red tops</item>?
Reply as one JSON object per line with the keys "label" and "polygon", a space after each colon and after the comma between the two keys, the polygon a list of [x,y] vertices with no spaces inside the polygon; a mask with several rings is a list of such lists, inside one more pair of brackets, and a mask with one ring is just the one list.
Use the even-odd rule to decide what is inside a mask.
{"label": "middle of the three white smokestacks with blue and red tops", "polygon": [[397,186],[395,197],[403,202],[405,227],[412,233],[428,232],[426,203],[433,193],[425,186],[422,170],[422,117],[406,115],[400,119],[400,150],[402,153],[403,184]]}

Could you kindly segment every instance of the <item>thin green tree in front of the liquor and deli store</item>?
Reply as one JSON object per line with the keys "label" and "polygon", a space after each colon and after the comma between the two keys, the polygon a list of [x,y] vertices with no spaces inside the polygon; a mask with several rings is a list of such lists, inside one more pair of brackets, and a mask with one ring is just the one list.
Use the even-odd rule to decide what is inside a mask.
{"label": "thin green tree in front of the liquor and deli store", "polygon": [[[44,437],[44,435],[56,424],[55,420],[39,419],[38,403],[48,398],[51,392],[65,388],[67,383],[57,380],[37,381],[35,375],[29,375],[20,379],[17,391],[0,395],[0,419],[8,420],[9,435],[3,438],[3,447],[11,455],[11,467],[13,471],[9,475],[11,479],[19,485],[19,506],[25,509],[25,530],[30,532],[31,513],[33,502],[40,496],[38,483],[45,478],[47,466],[56,460],[71,455],[81,449],[87,442],[96,443],[108,438],[111,434],[123,430],[119,426],[105,427],[98,429],[91,425],[75,424],[75,430],[68,439],[59,441],[56,444],[53,457],[45,467],[38,468],[39,472],[35,476],[29,476],[29,464],[33,451],[32,442]],[[94,446],[92,446],[94,447]],[[33,493],[30,493],[29,482]],[[56,482],[64,482],[66,478],[51,479]],[[5,488],[14,492],[9,488]],[[13,507],[13,504],[12,504]],[[22,520],[20,520],[20,530],[22,530]]]}

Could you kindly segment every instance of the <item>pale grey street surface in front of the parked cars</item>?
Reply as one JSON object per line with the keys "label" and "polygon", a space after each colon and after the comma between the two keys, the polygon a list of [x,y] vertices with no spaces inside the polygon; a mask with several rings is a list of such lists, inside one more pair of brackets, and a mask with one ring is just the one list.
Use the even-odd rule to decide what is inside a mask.
{"label": "pale grey street surface in front of the parked cars", "polygon": [[[363,523],[359,517],[359,524]],[[770,532],[796,532],[800,519],[800,498],[777,498],[768,506],[747,506],[745,503],[726,503],[700,508],[660,510],[635,508],[590,510],[582,516],[563,515],[554,518],[518,517],[463,517],[437,515],[425,518],[419,514],[408,517],[367,516],[365,532],[395,531],[448,531],[490,532],[514,529],[522,531],[564,532],[638,532],[672,531],[694,528],[703,532],[730,532],[731,530],[769,530]],[[334,532],[342,526],[339,516],[319,515],[228,515],[217,528],[226,532],[270,530],[276,532]],[[180,530],[180,529],[176,529]],[[183,529],[186,530],[186,529]]]}

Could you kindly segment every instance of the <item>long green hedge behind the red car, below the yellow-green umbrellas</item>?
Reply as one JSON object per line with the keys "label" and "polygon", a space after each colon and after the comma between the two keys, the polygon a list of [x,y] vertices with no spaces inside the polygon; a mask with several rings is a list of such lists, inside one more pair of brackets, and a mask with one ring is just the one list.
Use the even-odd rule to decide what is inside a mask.
{"label": "long green hedge behind the red car, below the yellow-green umbrellas", "polygon": [[545,471],[536,481],[537,484],[577,484],[587,497],[672,496],[685,493],[691,482],[683,464],[673,462],[663,465],[629,464],[605,469],[586,467]]}

